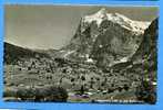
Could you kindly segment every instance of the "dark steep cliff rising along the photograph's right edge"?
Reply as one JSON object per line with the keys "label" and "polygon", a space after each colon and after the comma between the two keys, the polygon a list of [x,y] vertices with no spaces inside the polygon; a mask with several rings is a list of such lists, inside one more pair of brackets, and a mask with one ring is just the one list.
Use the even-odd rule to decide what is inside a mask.
{"label": "dark steep cliff rising along the photograph's right edge", "polygon": [[145,59],[154,58],[156,59],[156,43],[159,35],[159,20],[155,19],[150,26],[145,30],[143,40],[140,44],[140,47],[132,57],[132,61],[135,59]]}

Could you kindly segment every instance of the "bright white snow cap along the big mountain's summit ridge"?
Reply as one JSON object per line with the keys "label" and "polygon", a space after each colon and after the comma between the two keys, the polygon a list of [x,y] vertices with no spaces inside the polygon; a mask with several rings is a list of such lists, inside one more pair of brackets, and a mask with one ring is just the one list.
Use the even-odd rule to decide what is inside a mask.
{"label": "bright white snow cap along the big mountain's summit ridge", "polygon": [[94,14],[85,15],[82,20],[86,23],[92,23],[95,21],[98,26],[100,26],[103,20],[109,20],[135,33],[143,33],[144,30],[150,25],[150,22],[146,21],[135,21],[120,13],[109,13],[104,8]]}

